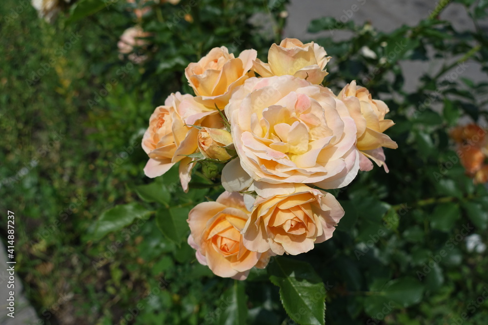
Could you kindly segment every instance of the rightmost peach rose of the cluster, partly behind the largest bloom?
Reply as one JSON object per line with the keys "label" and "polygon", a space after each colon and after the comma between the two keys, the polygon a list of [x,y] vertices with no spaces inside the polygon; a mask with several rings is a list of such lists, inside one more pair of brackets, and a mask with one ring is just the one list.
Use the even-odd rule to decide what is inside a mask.
{"label": "rightmost peach rose of the cluster, partly behind the largest bloom", "polygon": [[386,113],[389,112],[388,106],[382,100],[372,99],[368,90],[357,86],[356,81],[347,84],[337,97],[346,104],[349,114],[356,122],[357,148],[362,153],[361,170],[370,171],[373,168],[373,164],[367,159],[370,158],[378,166],[384,166],[388,172],[382,147],[398,148],[395,141],[383,134],[395,124],[392,120],[385,119]]}

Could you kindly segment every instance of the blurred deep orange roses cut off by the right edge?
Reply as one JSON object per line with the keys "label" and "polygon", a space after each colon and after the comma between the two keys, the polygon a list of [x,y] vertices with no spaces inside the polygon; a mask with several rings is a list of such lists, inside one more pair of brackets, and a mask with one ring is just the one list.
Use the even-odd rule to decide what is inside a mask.
{"label": "blurred deep orange roses cut off by the right edge", "polygon": [[457,144],[457,154],[466,174],[475,184],[488,182],[488,136],[487,130],[476,124],[458,126],[451,131],[451,138]]}

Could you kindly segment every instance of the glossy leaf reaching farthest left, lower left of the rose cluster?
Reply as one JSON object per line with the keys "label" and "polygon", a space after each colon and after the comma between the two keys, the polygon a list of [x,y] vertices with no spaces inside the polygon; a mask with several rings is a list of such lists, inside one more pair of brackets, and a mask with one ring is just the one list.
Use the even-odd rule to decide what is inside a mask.
{"label": "glossy leaf reaching farthest left, lower left of the rose cluster", "polygon": [[101,239],[106,234],[130,225],[136,218],[146,220],[151,211],[139,203],[118,205],[102,212],[95,225],[93,239]]}

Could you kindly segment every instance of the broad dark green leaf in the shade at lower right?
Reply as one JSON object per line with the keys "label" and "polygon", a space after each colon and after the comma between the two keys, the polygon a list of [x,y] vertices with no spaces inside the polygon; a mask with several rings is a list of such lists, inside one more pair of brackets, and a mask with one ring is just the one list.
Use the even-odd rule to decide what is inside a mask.
{"label": "broad dark green leaf in the shade at lower right", "polygon": [[403,307],[419,303],[424,295],[424,286],[416,279],[395,279],[386,284],[386,299],[393,300]]}

